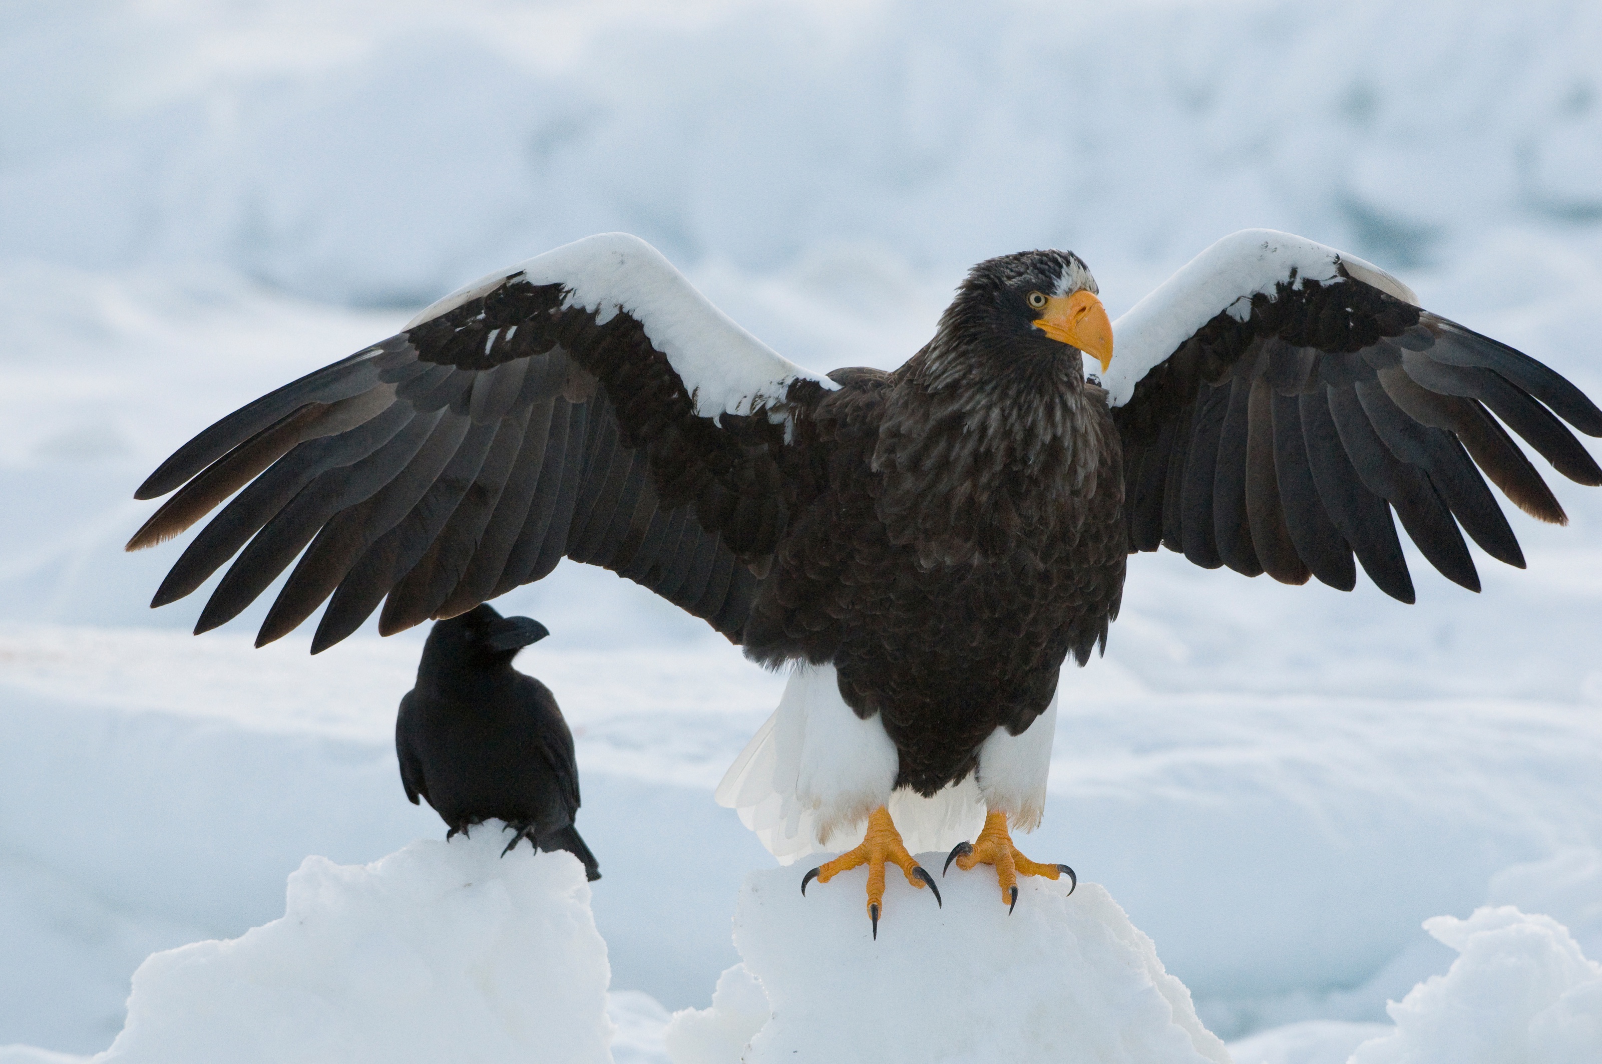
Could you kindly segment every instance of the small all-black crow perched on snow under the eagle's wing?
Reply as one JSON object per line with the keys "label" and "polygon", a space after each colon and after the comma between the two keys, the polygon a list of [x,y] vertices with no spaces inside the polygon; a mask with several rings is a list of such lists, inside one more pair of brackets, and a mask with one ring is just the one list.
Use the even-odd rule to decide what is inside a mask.
{"label": "small all-black crow perched on snow under the eagle's wing", "polygon": [[566,849],[599,880],[574,828],[574,734],[551,689],[511,667],[517,651],[548,635],[540,622],[490,606],[436,623],[396,718],[400,782],[412,804],[428,798],[450,827],[445,838],[495,817],[516,832],[501,856],[527,838]]}

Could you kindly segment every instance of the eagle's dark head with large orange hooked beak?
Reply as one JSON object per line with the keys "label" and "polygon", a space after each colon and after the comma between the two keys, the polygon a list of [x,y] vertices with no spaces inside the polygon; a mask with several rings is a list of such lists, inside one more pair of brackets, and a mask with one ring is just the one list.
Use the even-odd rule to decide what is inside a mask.
{"label": "eagle's dark head with large orange hooked beak", "polygon": [[968,271],[940,317],[956,349],[1001,357],[1080,351],[1112,362],[1112,322],[1096,298],[1096,277],[1073,252],[1017,252]]}

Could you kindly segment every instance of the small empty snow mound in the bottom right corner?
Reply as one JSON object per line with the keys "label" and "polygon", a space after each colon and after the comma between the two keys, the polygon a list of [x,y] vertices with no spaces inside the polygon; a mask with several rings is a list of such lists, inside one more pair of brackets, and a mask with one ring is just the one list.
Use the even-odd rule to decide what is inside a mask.
{"label": "small empty snow mound in the bottom right corner", "polygon": [[1602,1058],[1602,965],[1564,925],[1512,905],[1424,929],[1458,950],[1389,1006],[1395,1032],[1365,1042],[1350,1064],[1573,1064]]}

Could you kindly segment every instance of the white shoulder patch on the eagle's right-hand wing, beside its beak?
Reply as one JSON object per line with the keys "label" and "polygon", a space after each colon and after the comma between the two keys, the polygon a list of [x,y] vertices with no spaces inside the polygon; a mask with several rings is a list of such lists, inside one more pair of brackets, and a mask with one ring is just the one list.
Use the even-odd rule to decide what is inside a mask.
{"label": "white shoulder patch on the eagle's right-hand wing, beside its beak", "polygon": [[1296,284],[1341,282],[1341,266],[1381,292],[1418,303],[1411,288],[1360,258],[1290,232],[1242,229],[1181,266],[1112,324],[1113,357],[1105,373],[1094,359],[1088,359],[1086,367],[1094,367],[1091,375],[1107,389],[1109,404],[1121,407],[1152,367],[1214,316],[1229,312],[1245,320],[1251,312],[1251,296],[1290,282],[1293,272]]}

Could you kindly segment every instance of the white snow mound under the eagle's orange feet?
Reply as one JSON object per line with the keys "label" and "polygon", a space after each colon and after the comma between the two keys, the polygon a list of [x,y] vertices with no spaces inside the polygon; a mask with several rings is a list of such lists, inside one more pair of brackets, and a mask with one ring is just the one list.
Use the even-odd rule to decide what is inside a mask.
{"label": "white snow mound under the eagle's orange feet", "polygon": [[1025,880],[1009,917],[988,869],[945,877],[944,909],[896,873],[876,941],[860,873],[806,897],[799,885],[799,869],[747,877],[734,920],[743,965],[718,981],[710,1010],[674,1014],[674,1064],[1229,1064],[1190,992],[1096,883],[1069,897],[1062,883]]}

